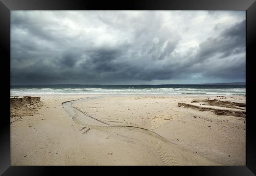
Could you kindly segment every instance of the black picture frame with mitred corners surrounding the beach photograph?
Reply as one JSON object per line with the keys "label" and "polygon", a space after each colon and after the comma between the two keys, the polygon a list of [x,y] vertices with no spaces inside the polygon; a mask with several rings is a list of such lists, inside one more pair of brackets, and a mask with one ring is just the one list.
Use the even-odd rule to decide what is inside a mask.
{"label": "black picture frame with mitred corners surrounding the beach photograph", "polygon": [[[9,100],[10,78],[10,11],[11,10],[246,10],[246,94],[247,94],[247,126],[246,126],[246,166],[237,167],[161,167],[161,171],[189,172],[196,175],[232,175],[245,176],[256,174],[256,128],[254,127],[254,65],[256,58],[253,45],[256,43],[256,2],[255,0],[0,0],[0,50],[2,55],[2,100]],[[4,63],[3,63],[4,61]],[[3,69],[4,68],[4,69]],[[9,87],[9,88],[8,88]],[[89,167],[13,167],[10,166],[10,125],[9,104],[3,102],[4,115],[1,117],[0,132],[0,174],[7,175],[49,175],[53,172],[68,170],[77,173],[86,170],[99,170]],[[122,167],[119,167],[124,169]],[[156,167],[147,167],[149,172]],[[89,170],[88,170],[89,169]],[[109,167],[102,169],[109,171]],[[130,169],[127,170],[127,173]],[[254,173],[254,174],[253,174]]]}

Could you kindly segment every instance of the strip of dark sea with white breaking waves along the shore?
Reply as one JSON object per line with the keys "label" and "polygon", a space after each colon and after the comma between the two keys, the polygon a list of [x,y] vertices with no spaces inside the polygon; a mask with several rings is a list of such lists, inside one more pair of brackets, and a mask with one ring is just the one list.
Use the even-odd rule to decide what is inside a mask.
{"label": "strip of dark sea with white breaking waves along the shore", "polygon": [[245,85],[11,85],[11,95],[33,94],[191,94],[246,95]]}

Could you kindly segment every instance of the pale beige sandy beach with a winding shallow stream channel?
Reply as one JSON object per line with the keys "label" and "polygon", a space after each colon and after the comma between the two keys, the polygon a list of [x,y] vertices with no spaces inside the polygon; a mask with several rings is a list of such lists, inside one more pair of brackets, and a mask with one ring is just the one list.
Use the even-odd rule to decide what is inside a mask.
{"label": "pale beige sandy beach with a winding shallow stream channel", "polygon": [[178,106],[245,96],[39,96],[33,114],[10,119],[12,166],[245,165],[245,117]]}

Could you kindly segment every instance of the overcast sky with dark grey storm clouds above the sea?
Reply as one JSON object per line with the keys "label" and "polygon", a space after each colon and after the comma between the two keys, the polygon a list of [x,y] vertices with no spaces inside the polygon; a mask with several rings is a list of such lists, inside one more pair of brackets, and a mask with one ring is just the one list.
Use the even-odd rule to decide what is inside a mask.
{"label": "overcast sky with dark grey storm clouds above the sea", "polygon": [[11,84],[245,82],[245,11],[11,11]]}

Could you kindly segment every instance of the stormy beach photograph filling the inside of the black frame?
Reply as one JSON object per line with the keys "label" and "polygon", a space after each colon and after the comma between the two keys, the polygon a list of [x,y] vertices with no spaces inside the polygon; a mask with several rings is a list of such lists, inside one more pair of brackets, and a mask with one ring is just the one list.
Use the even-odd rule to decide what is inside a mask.
{"label": "stormy beach photograph filling the inside of the black frame", "polygon": [[246,11],[12,10],[11,166],[245,166]]}

